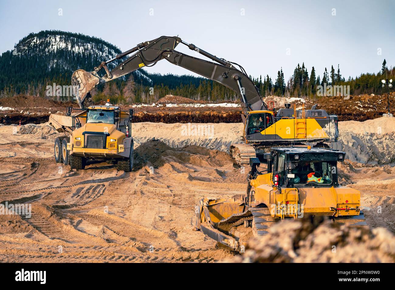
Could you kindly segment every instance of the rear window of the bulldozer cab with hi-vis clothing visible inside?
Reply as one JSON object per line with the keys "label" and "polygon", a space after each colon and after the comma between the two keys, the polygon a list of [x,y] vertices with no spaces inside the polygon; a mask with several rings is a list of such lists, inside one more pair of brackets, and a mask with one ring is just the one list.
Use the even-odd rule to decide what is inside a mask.
{"label": "rear window of the bulldozer cab with hi-vis clothing visible inside", "polygon": [[295,185],[332,184],[332,166],[328,162],[300,162],[297,168],[292,169],[292,173],[295,174],[292,178]]}

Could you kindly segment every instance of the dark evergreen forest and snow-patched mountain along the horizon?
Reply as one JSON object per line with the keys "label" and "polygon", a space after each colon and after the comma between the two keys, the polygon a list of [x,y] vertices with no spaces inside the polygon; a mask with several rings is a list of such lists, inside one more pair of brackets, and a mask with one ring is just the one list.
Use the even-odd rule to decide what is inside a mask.
{"label": "dark evergreen forest and snow-patched mountain along the horizon", "polygon": [[[71,74],[77,69],[91,71],[102,60],[120,53],[120,49],[100,38],[83,34],[46,30],[31,33],[20,40],[11,51],[0,56],[0,97],[24,93],[58,100],[70,96],[47,96],[47,85],[70,85]],[[113,68],[115,63],[109,64]],[[310,71],[310,73],[309,73]],[[292,77],[284,79],[282,68],[274,81],[268,74],[251,77],[262,96],[314,96],[317,86],[350,85],[350,94],[382,91],[381,79],[394,78],[395,70],[388,70],[386,61],[378,73],[363,73],[345,79],[340,66],[325,68],[322,74],[314,67],[308,70],[304,63],[295,68]],[[385,75],[385,76],[383,76]],[[235,93],[226,87],[192,75],[161,75],[139,69],[115,81],[100,85],[92,91],[95,101],[110,98],[115,103],[155,102],[166,94],[180,95],[196,100],[236,100]]]}

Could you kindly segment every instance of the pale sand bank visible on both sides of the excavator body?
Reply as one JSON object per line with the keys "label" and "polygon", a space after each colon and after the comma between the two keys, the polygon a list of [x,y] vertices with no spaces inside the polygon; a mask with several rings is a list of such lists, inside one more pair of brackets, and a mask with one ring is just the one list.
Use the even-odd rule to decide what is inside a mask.
{"label": "pale sand bank visible on both sides of the excavator body", "polygon": [[[134,123],[135,145],[152,138],[173,148],[196,145],[229,151],[231,143],[243,143],[243,123]],[[395,162],[395,118],[378,118],[364,122],[339,122],[339,141],[334,149],[346,152],[346,159],[362,164]]]}

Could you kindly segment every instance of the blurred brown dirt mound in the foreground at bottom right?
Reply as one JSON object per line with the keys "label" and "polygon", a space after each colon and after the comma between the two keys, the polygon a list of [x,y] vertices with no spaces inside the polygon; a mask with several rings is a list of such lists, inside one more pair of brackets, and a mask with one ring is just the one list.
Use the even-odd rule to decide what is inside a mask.
{"label": "blurred brown dirt mound in the foreground at bottom right", "polygon": [[384,228],[336,226],[322,217],[279,222],[223,262],[393,263],[395,236]]}

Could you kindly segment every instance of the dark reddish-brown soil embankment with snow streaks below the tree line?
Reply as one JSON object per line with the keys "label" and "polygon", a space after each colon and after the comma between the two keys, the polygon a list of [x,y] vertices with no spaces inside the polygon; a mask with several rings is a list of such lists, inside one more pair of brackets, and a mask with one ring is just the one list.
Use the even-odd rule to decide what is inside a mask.
{"label": "dark reddish-brown soil embankment with snow streaks below the tree line", "polygon": [[[321,97],[312,99],[281,98],[268,96],[264,98],[269,108],[284,107],[289,102],[297,108],[305,105],[310,108],[318,103],[318,109],[325,109],[330,115],[337,115],[339,121],[366,121],[381,117],[387,112],[387,96],[350,96]],[[390,103],[394,104],[395,93],[391,93]],[[2,124],[40,124],[46,122],[51,113],[65,113],[66,107],[78,107],[76,103],[62,103],[41,97],[19,95],[12,98],[0,98],[0,123]],[[135,122],[164,123],[235,123],[241,122],[241,108],[235,103],[214,104],[196,101],[179,96],[166,96],[156,104],[121,105],[122,109],[135,109]],[[391,110],[395,114],[394,109]]]}

